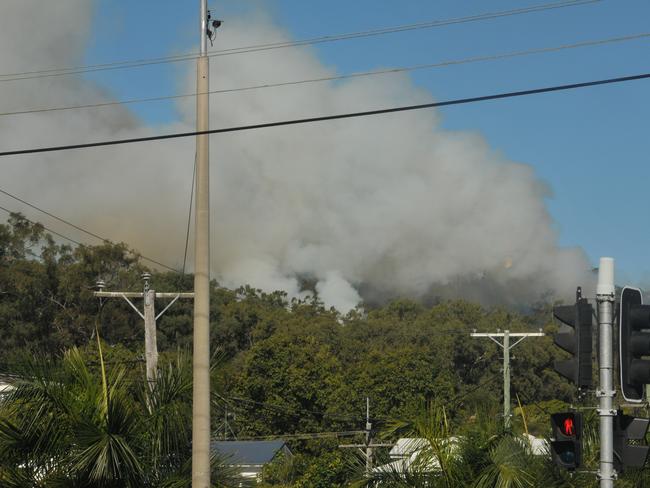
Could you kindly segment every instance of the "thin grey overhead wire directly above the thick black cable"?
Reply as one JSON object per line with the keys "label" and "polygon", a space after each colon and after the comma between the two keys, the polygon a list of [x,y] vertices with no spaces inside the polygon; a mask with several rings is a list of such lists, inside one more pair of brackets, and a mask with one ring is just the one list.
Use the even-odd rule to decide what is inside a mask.
{"label": "thin grey overhead wire directly above the thick black cable", "polygon": [[[650,33],[649,32],[643,32],[643,33],[640,33],[640,34],[632,34],[632,35],[628,35],[628,36],[611,37],[611,38],[608,38],[608,39],[597,39],[597,40],[592,40],[592,41],[578,42],[578,43],[574,43],[574,44],[563,44],[563,45],[559,45],[559,46],[528,49],[528,50],[524,50],[524,51],[514,51],[514,52],[508,52],[508,53],[493,54],[493,55],[488,55],[488,56],[474,56],[474,57],[463,58],[463,59],[441,61],[441,62],[438,62],[438,63],[418,64],[418,65],[413,65],[413,66],[404,66],[404,67],[387,68],[387,69],[381,69],[381,70],[363,71],[363,72],[359,72],[359,73],[349,73],[349,74],[344,74],[344,75],[323,76],[323,77],[318,77],[318,78],[308,78],[308,79],[303,79],[303,80],[285,81],[285,82],[278,82],[278,83],[264,83],[264,84],[260,84],[260,85],[252,85],[252,86],[245,86],[245,87],[238,87],[238,88],[225,88],[225,89],[220,89],[220,90],[211,90],[211,91],[209,91],[207,93],[209,95],[216,95],[216,94],[235,93],[235,92],[242,92],[242,91],[260,90],[260,89],[266,89],[266,88],[278,88],[278,87],[284,87],[284,86],[302,85],[302,84],[308,84],[308,83],[321,83],[321,82],[326,82],[326,81],[339,81],[339,80],[345,80],[345,79],[351,79],[351,78],[362,78],[362,77],[370,77],[370,76],[378,76],[378,75],[398,74],[398,73],[405,73],[405,72],[411,72],[411,71],[420,71],[420,70],[425,70],[425,69],[457,66],[457,65],[462,65],[462,64],[470,64],[470,63],[478,63],[478,62],[486,62],[486,61],[498,61],[498,60],[503,60],[503,59],[515,58],[515,57],[530,56],[530,55],[534,55],[534,54],[546,54],[546,53],[558,52],[558,51],[563,51],[563,50],[568,50],[568,49],[577,49],[577,48],[590,47],[590,46],[599,46],[599,45],[605,45],[605,44],[627,42],[627,41],[633,41],[633,40],[638,40],[638,39],[644,39],[644,38],[648,38],[648,37],[650,37]],[[164,96],[159,96],[159,97],[132,98],[132,99],[128,99],[128,100],[120,100],[120,101],[112,101],[112,102],[97,102],[97,103],[89,103],[89,104],[81,104],[81,105],[68,105],[68,106],[62,106],[62,107],[48,107],[48,108],[40,108],[40,109],[37,108],[37,109],[28,109],[28,110],[15,110],[15,111],[11,111],[11,112],[0,112],[0,116],[24,115],[24,114],[33,114],[33,113],[43,113],[43,112],[58,112],[58,111],[64,111],[64,110],[79,110],[79,109],[88,109],[88,108],[103,108],[103,107],[111,107],[111,106],[116,106],[116,105],[129,105],[129,104],[135,104],[135,103],[159,102],[159,101],[174,100],[174,99],[181,99],[181,98],[189,98],[189,97],[195,97],[195,96],[197,96],[197,93],[164,95]]]}

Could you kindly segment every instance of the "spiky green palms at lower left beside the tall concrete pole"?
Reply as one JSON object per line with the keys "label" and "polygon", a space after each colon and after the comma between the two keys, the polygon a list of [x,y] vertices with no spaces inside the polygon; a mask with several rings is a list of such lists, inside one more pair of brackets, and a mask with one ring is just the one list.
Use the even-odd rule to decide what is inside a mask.
{"label": "spiky green palms at lower left beside the tall concrete pole", "polygon": [[[99,370],[77,349],[61,361],[24,358],[0,402],[0,485],[6,487],[189,487],[191,369],[179,354],[153,385]],[[237,486],[213,459],[214,486]]]}

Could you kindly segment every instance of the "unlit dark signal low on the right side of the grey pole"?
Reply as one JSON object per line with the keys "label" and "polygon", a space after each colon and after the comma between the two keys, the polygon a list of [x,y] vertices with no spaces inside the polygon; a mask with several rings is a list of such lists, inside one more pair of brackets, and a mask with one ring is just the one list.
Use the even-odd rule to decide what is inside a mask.
{"label": "unlit dark signal low on the right side of the grey pole", "polygon": [[614,417],[614,464],[619,473],[626,467],[642,468],[645,465],[650,447],[630,445],[628,441],[645,439],[648,424],[648,419],[623,415],[621,411]]}

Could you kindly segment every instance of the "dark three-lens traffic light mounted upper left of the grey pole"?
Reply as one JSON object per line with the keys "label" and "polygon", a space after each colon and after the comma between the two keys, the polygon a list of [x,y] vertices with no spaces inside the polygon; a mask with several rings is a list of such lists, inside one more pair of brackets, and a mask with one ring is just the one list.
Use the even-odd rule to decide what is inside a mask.
{"label": "dark three-lens traffic light mounted upper left of the grey pole", "polygon": [[[590,388],[591,378],[591,323],[593,309],[582,290],[576,291],[574,305],[553,308],[553,316],[562,326],[553,336],[553,342],[571,353],[571,359],[555,361],[555,371],[573,381],[578,388]],[[573,329],[573,330],[571,330]]]}

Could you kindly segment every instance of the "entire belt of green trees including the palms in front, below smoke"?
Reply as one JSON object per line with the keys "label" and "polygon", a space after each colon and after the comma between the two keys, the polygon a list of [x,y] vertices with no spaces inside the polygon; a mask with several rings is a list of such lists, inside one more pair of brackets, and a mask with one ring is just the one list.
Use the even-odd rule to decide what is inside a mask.
{"label": "entire belt of green trees including the palms in front, below smoke", "polygon": [[[149,269],[126,245],[61,245],[20,215],[0,225],[0,377],[19,385],[0,402],[2,486],[188,486],[191,300],[158,321],[149,388],[142,319],[124,300],[93,296],[98,280],[141,291],[145,271],[156,291],[192,290],[191,275]],[[522,314],[402,298],[342,315],[316,294],[213,282],[214,436],[287,439],[294,456],[267,466],[265,486],[369,486],[356,450],[338,448],[363,438],[346,433],[364,429],[368,398],[376,439],[429,439],[438,460],[440,439],[464,440],[434,475],[377,486],[593,486],[592,475],[561,473],[517,441],[548,436],[552,412],[594,403],[553,371],[552,306]],[[501,348],[470,337],[497,329],[547,333],[512,351],[512,432],[502,428]],[[214,462],[215,486],[237,486]],[[628,486],[643,486],[641,476]]]}

